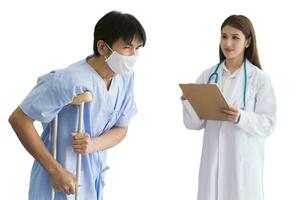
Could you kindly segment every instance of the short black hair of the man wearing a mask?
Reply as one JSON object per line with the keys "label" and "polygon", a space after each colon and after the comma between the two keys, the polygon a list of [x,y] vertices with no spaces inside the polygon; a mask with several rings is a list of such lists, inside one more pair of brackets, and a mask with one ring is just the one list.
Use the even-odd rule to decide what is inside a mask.
{"label": "short black hair of the man wearing a mask", "polygon": [[134,37],[140,39],[142,46],[145,46],[146,33],[141,23],[133,15],[111,11],[104,15],[95,26],[94,55],[100,55],[97,49],[99,40],[112,46],[119,39],[131,43]]}

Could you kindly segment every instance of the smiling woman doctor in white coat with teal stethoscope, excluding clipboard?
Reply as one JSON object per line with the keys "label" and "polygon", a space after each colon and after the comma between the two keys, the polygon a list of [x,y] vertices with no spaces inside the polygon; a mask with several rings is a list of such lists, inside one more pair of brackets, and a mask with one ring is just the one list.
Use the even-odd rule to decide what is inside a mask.
{"label": "smiling woman doctor in white coat with teal stethoscope, excluding clipboard", "polygon": [[264,142],[274,130],[276,101],[262,71],[253,26],[242,15],[221,26],[220,63],[197,83],[215,83],[230,107],[226,121],[199,119],[182,96],[188,129],[204,129],[198,200],[263,200]]}

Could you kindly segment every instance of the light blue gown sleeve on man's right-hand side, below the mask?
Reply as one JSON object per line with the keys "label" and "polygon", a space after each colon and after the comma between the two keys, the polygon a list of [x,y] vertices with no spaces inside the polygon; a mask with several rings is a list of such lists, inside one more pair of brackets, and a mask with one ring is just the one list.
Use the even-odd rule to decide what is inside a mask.
{"label": "light blue gown sleeve on man's right-hand side, below the mask", "polygon": [[137,108],[134,100],[133,87],[134,87],[134,74],[132,73],[126,90],[125,98],[123,100],[124,109],[122,110],[119,119],[115,123],[115,126],[118,127],[128,126],[131,118],[134,117],[137,113]]}

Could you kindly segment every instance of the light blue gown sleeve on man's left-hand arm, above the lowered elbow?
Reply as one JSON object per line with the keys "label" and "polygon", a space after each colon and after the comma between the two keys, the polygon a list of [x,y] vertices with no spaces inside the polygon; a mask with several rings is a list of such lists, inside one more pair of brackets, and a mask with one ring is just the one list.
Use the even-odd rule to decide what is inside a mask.
{"label": "light blue gown sleeve on man's left-hand arm, above the lowered elbow", "polygon": [[37,85],[20,104],[20,108],[31,119],[49,123],[79,93],[80,89],[72,81],[53,71],[38,78]]}

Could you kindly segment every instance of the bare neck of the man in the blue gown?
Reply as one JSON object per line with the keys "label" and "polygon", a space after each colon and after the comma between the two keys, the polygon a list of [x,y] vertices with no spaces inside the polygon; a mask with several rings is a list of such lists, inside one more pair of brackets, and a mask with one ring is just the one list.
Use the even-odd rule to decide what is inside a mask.
{"label": "bare neck of the man in the blue gown", "polygon": [[103,56],[93,56],[87,63],[90,64],[94,70],[105,81],[110,81],[116,74],[107,66]]}

